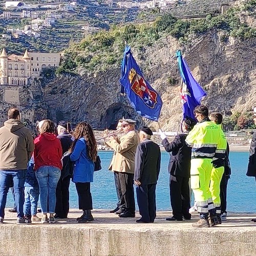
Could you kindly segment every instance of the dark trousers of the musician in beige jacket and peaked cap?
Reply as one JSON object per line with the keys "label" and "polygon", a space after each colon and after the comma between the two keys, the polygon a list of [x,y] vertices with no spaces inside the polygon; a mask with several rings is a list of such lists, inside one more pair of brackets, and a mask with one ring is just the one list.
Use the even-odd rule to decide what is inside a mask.
{"label": "dark trousers of the musician in beige jacket and peaked cap", "polygon": [[134,189],[133,189],[134,174],[119,172],[118,176],[119,176],[122,198],[125,204],[125,210],[131,212],[131,214],[135,214],[135,200],[134,200]]}

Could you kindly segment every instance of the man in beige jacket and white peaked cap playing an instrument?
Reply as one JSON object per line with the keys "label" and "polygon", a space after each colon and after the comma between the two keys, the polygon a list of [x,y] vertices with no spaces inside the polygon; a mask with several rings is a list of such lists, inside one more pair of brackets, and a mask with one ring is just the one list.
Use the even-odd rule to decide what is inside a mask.
{"label": "man in beige jacket and white peaked cap playing an instrument", "polygon": [[123,119],[122,128],[125,135],[120,139],[111,137],[105,143],[115,151],[109,169],[118,172],[121,190],[121,201],[124,200],[124,212],[119,214],[122,218],[135,217],[135,200],[133,177],[135,168],[135,153],[139,143],[138,132],[135,130],[136,121]]}

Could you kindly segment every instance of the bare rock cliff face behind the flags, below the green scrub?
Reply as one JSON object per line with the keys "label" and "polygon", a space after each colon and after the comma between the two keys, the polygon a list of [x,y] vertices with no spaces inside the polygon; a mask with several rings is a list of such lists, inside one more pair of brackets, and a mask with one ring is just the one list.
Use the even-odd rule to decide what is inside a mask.
{"label": "bare rock cliff face behind the flags, below the green scrub", "polygon": [[[210,110],[230,115],[250,111],[256,104],[256,39],[223,42],[221,32],[211,31],[189,47],[180,47],[172,37],[162,38],[144,53],[133,51],[134,57],[163,100],[160,125],[165,130],[178,129],[181,120],[179,95],[180,75],[175,57],[182,50],[190,70],[207,92],[203,103]],[[126,98],[120,97],[120,69],[82,76],[59,76],[42,88],[48,116],[74,123],[89,121],[95,128],[114,128],[122,116],[139,120],[155,129],[156,122],[142,120]],[[175,82],[170,82],[174,78]]]}

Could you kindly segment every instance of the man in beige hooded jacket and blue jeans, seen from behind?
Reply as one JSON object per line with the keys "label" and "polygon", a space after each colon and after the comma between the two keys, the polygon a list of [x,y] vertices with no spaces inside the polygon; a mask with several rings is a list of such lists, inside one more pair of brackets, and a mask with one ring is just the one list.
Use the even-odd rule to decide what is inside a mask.
{"label": "man in beige hooded jacket and blue jeans, seen from behind", "polygon": [[6,197],[13,181],[17,224],[30,224],[24,218],[24,182],[27,164],[34,151],[30,131],[20,122],[18,109],[8,111],[8,120],[0,128],[0,224],[4,221]]}

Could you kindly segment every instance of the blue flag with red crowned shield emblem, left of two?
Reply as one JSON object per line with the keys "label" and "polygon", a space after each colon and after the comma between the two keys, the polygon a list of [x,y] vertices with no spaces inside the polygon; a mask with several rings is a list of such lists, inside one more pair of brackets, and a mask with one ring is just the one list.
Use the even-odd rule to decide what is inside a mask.
{"label": "blue flag with red crowned shield emblem, left of two", "polygon": [[125,91],[138,114],[147,119],[158,121],[163,104],[162,100],[143,78],[129,46],[126,46],[124,50],[120,82],[122,84],[121,93]]}

